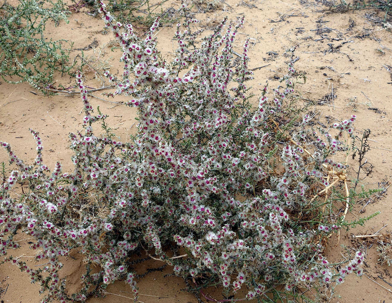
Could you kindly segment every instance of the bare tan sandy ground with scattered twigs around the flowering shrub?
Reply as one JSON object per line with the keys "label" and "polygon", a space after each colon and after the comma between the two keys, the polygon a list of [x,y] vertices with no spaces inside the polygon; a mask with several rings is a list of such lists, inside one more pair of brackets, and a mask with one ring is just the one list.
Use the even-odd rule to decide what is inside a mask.
{"label": "bare tan sandy ground with scattered twigs around the flowering shrub", "polygon": [[[292,45],[298,45],[296,69],[306,71],[307,81],[299,90],[304,101],[314,100],[314,112],[319,117],[320,125],[332,125],[336,120],[347,118],[351,114],[358,116],[356,128],[358,135],[364,129],[370,128],[370,146],[367,161],[374,165],[370,176],[362,181],[367,188],[377,188],[380,184],[388,182],[392,176],[392,34],[385,30],[382,24],[374,22],[377,18],[383,19],[385,13],[372,9],[352,10],[346,12],[331,12],[322,6],[321,1],[307,0],[227,0],[220,2],[213,11],[199,10],[196,18],[201,20],[203,27],[218,24],[224,16],[236,20],[245,15],[245,27],[240,29],[237,36],[236,51],[241,52],[241,45],[246,38],[250,39],[249,56],[250,68],[254,70],[255,79],[252,81],[254,93],[260,92],[268,79],[271,86],[276,86],[274,76],[286,72],[286,60],[283,53]],[[178,2],[166,2],[166,7],[176,7]],[[197,9],[196,9],[197,11]],[[63,38],[75,42],[76,48],[85,48],[85,54],[93,54],[89,45],[103,45],[102,59],[113,65],[112,71],[121,71],[119,50],[107,46],[113,39],[111,34],[103,35],[102,21],[99,18],[75,13],[69,17],[70,23],[60,24],[59,27],[48,25],[47,33],[54,38]],[[143,29],[139,29],[140,33]],[[170,55],[175,47],[171,40],[174,28],[164,26],[158,33],[159,44],[164,53]],[[94,42],[96,40],[96,42]],[[114,45],[115,46],[115,45]],[[90,49],[89,49],[90,48]],[[98,49],[99,50],[99,49]],[[273,51],[274,53],[269,53]],[[269,53],[269,54],[267,54]],[[78,51],[72,53],[73,56]],[[109,58],[112,57],[112,58]],[[286,62],[286,63],[285,63]],[[87,85],[100,87],[92,71],[85,71]],[[65,87],[73,85],[74,79],[69,76],[56,78],[58,87],[62,83]],[[33,92],[33,93],[32,93]],[[100,96],[98,92],[96,96]],[[332,97],[333,96],[333,97]],[[100,96],[102,97],[102,96]],[[104,97],[102,97],[104,98]],[[113,100],[113,99],[111,99]],[[114,99],[125,101],[125,98]],[[132,126],[135,122],[136,111],[125,108],[123,105],[105,102],[92,98],[94,107],[100,105],[103,112],[110,115],[109,123],[117,128],[116,134],[126,140],[127,134],[136,131]],[[43,137],[44,161],[49,167],[60,160],[64,171],[71,169],[71,153],[67,150],[68,133],[81,129],[81,109],[83,105],[80,98],[67,96],[40,96],[36,90],[27,84],[0,85],[0,136],[1,139],[11,143],[19,156],[31,161],[35,156],[35,146],[28,128],[39,131]],[[0,151],[0,162],[7,161],[4,151]],[[352,161],[353,169],[358,169],[358,163]],[[352,172],[354,174],[354,172]],[[381,214],[369,221],[364,227],[358,227],[347,233],[341,232],[340,239],[330,239],[331,243],[326,250],[328,260],[339,261],[343,249],[348,247],[366,247],[367,259],[365,274],[362,279],[350,276],[346,282],[337,287],[337,296],[332,302],[391,302],[392,276],[390,268],[377,263],[376,244],[355,239],[355,235],[372,234],[381,229],[383,232],[392,230],[391,198],[388,191],[383,197],[363,200],[347,214],[347,220],[355,220],[373,212]],[[361,212],[360,212],[361,210]],[[28,239],[25,234],[18,234],[22,240],[22,248],[18,253],[25,259],[31,259],[34,252],[28,249]],[[338,246],[336,246],[338,244]],[[138,258],[145,258],[144,252]],[[71,288],[78,285],[78,269],[82,256],[74,253],[74,258],[64,260],[64,274],[71,282]],[[152,259],[135,265],[139,274],[147,274],[138,281],[140,296],[145,303],[196,303],[196,298],[187,292],[181,291],[185,284],[181,278],[165,276],[172,273],[172,269],[165,267],[157,270],[163,264]],[[149,269],[155,269],[150,271]],[[372,281],[372,280],[373,281]],[[11,265],[0,267],[0,299],[1,302],[10,303],[38,303],[38,286],[30,284],[28,277]],[[377,284],[378,283],[378,284]],[[388,284],[390,283],[390,284]],[[129,287],[118,281],[107,288],[104,299],[91,298],[89,303],[131,302]],[[219,291],[206,290],[211,296],[220,299]],[[339,297],[340,296],[340,297]]]}

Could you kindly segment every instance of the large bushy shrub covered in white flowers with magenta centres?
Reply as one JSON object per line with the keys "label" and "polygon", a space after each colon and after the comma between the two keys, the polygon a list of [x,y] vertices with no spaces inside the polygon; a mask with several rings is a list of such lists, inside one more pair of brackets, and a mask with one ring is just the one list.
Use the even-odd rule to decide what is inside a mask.
{"label": "large bushy shrub covered in white flowers with magenta centres", "polygon": [[[323,256],[323,239],[347,224],[319,207],[329,201],[328,189],[346,184],[347,162],[330,156],[346,154],[342,138],[352,136],[355,116],[336,123],[335,136],[313,129],[307,114],[296,124],[299,112],[288,107],[300,76],[295,47],[287,52],[289,71],[281,85],[265,86],[252,108],[247,42],[232,67],[232,43],[243,19],[237,25],[224,20],[194,47],[198,20],[183,6],[185,22],[177,25],[177,55],[169,64],[154,38],[158,20],[140,38],[131,24],[116,22],[102,2],[97,5],[123,49],[122,78],[105,72],[116,85],[110,95],[130,96],[138,134],[131,143],[109,132],[95,135],[93,124],[107,129],[107,116],[93,111],[77,73],[85,117],[84,132],[69,135],[73,172],[43,164],[36,131],[32,165],[0,142],[17,167],[0,191],[0,253],[40,284],[47,293],[42,302],[85,301],[118,279],[137,299],[136,274],[127,261],[141,247],[154,249],[154,258],[184,278],[215,278],[227,292],[246,286],[247,299],[271,292],[294,296],[298,287],[342,283],[351,272],[360,276],[361,251],[338,267]],[[11,197],[17,181],[29,184],[22,199]],[[43,268],[7,255],[18,248],[18,230],[33,237],[35,259],[47,262]],[[173,242],[187,256],[169,256],[165,245]],[[72,249],[86,266],[75,294],[59,272],[61,257]]]}

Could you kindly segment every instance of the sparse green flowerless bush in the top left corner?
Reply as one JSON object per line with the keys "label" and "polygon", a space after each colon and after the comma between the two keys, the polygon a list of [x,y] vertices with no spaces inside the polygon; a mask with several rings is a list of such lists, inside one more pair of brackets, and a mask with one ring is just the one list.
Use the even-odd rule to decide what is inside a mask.
{"label": "sparse green flowerless bush in the top left corner", "polygon": [[38,88],[51,84],[56,71],[69,73],[73,66],[71,51],[62,48],[66,41],[44,33],[48,22],[68,22],[61,0],[20,0],[16,7],[5,2],[0,13],[0,75],[5,81]]}

